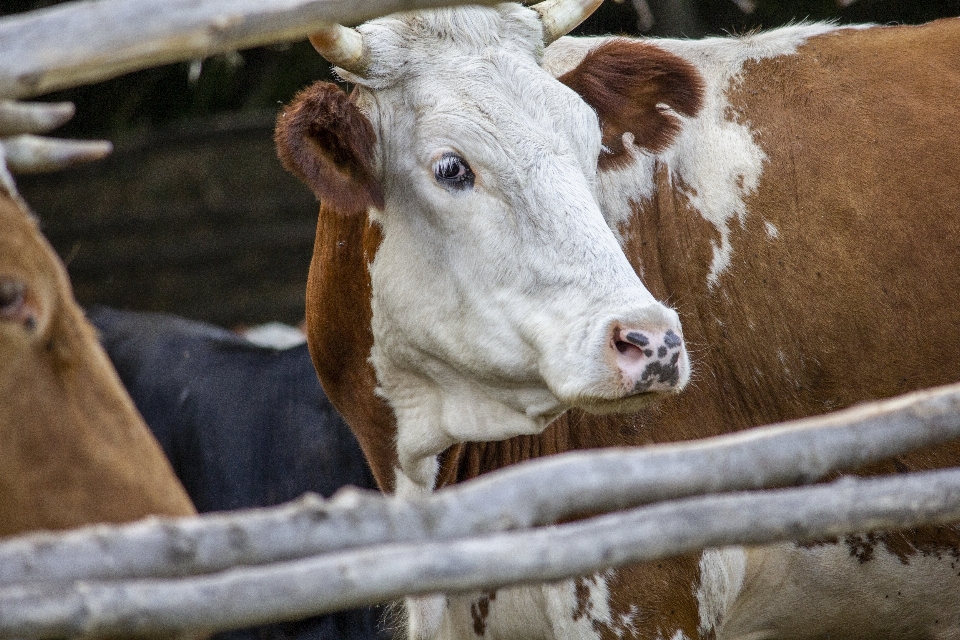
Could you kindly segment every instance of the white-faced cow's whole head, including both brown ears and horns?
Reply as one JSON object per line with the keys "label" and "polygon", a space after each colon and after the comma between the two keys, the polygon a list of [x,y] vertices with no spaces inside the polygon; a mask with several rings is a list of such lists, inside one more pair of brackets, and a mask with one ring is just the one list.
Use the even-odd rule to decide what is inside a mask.
{"label": "white-faced cow's whole head, including both brown ears and horns", "polygon": [[641,43],[555,78],[545,44],[594,7],[544,6],[331,28],[311,39],[356,91],[319,83],[278,118],[286,166],[381,229],[370,357],[401,467],[424,483],[454,442],[539,432],[573,406],[634,409],[689,377],[677,314],[625,258],[597,184],[625,134],[667,146],[701,81]]}

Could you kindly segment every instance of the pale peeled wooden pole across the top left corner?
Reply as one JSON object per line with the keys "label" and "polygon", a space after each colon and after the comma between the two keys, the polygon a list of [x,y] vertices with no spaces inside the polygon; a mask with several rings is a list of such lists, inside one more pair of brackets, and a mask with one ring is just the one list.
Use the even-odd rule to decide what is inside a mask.
{"label": "pale peeled wooden pole across the top left corner", "polygon": [[82,0],[0,20],[0,96],[23,98],[216,53],[299,40],[329,22],[494,0]]}

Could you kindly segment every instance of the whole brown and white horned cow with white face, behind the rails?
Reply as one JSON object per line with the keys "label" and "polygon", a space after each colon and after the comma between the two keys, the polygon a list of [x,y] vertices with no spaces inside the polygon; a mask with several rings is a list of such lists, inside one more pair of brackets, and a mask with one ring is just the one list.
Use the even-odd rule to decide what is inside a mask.
{"label": "whole brown and white horned cow with white face, behind the rails", "polygon": [[[960,374],[960,20],[570,38],[599,2],[311,37],[307,331],[379,485],[703,438]],[[956,444],[863,473],[960,462]],[[408,601],[427,638],[956,638],[960,529]]]}

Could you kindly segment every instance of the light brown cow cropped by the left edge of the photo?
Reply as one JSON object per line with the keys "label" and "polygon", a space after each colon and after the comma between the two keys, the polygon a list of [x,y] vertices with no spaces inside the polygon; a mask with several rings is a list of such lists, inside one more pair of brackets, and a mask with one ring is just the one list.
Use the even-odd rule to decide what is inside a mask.
{"label": "light brown cow cropped by the left edge of the photo", "polygon": [[0,537],[196,513],[2,162],[0,399]]}

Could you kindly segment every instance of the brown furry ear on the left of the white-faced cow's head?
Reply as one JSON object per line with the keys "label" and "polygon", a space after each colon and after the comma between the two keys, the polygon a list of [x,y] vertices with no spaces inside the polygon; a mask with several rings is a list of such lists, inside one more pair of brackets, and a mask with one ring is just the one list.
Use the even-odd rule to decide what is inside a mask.
{"label": "brown furry ear on the left of the white-faced cow's head", "polygon": [[376,139],[367,117],[329,82],[298,93],[280,111],[274,132],[283,166],[343,213],[383,208],[383,186],[373,169]]}

